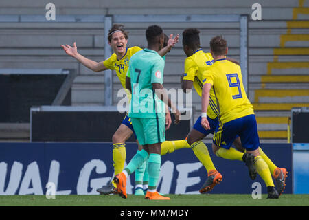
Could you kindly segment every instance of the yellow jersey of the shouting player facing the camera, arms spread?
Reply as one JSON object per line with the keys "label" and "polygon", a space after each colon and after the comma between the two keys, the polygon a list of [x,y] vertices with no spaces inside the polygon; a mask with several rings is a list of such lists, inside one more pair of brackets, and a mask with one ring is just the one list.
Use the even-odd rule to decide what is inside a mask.
{"label": "yellow jersey of the shouting player facing the camera, arms spread", "polygon": [[113,53],[110,58],[103,61],[106,68],[115,70],[120,83],[124,88],[126,88],[126,72],[128,70],[129,60],[133,54],[139,52],[140,50],[142,50],[141,47],[127,47],[126,54],[120,60],[118,60],[117,55]]}

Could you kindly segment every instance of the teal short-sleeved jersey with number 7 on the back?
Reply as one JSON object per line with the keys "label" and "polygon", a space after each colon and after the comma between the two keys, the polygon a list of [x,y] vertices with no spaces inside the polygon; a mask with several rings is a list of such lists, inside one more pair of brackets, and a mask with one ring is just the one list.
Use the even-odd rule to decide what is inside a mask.
{"label": "teal short-sleeved jersey with number 7 on the back", "polygon": [[129,61],[128,77],[131,79],[132,100],[130,118],[164,118],[165,104],[152,90],[152,83],[163,84],[164,60],[154,50],[145,48]]}

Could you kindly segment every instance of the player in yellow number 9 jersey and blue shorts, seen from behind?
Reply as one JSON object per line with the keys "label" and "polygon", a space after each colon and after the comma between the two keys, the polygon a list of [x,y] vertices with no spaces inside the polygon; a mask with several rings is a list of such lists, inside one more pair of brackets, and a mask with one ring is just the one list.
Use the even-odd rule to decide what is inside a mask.
{"label": "player in yellow number 9 jersey and blue shorts, seen from behind", "polygon": [[212,144],[214,153],[218,155],[218,151],[223,149],[225,155],[229,154],[233,140],[239,135],[242,147],[247,151],[245,162],[249,170],[256,168],[267,186],[268,198],[277,199],[279,194],[273,184],[268,164],[260,154],[258,126],[253,107],[244,91],[240,66],[227,61],[227,41],[222,36],[211,39],[210,48],[214,65],[203,73],[201,126],[210,129],[207,109],[213,89],[219,113],[219,126]]}

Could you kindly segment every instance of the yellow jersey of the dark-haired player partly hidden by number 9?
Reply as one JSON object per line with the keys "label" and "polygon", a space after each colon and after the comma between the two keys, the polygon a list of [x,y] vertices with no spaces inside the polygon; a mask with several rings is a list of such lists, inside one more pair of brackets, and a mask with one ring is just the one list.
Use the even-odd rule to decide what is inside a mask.
{"label": "yellow jersey of the dark-haired player partly hidden by number 9", "polygon": [[[214,63],[210,53],[204,53],[202,49],[196,50],[192,56],[185,59],[185,74],[183,80],[193,81],[194,89],[199,96],[202,96],[203,89],[203,72]],[[214,90],[210,91],[209,107],[207,108],[207,115],[209,118],[216,118],[218,116],[218,109]]]}

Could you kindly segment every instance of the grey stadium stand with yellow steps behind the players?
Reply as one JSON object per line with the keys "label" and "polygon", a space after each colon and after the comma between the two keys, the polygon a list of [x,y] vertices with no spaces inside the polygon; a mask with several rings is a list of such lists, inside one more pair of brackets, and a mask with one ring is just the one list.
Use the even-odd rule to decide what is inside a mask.
{"label": "grey stadium stand with yellow steps behind the players", "polygon": [[[29,2],[29,1],[28,1]],[[46,2],[47,3],[47,2]],[[262,21],[251,19],[251,5],[262,5]],[[63,52],[60,44],[76,41],[80,54],[95,61],[104,60],[104,22],[80,22],[87,15],[106,14],[248,14],[249,15],[249,99],[258,120],[261,142],[287,142],[290,109],[309,107],[309,1],[54,1],[57,16],[77,16],[75,22],[33,22],[45,17],[41,1],[1,1],[0,68],[76,69],[71,91],[72,105],[104,105],[104,72],[92,72]],[[158,5],[165,5],[159,7]],[[16,19],[16,15],[19,15]],[[24,16],[24,17],[23,17]],[[144,47],[145,29],[152,23],[124,23],[128,46]],[[209,51],[212,36],[222,34],[228,41],[229,56],[239,59],[239,23],[159,23],[166,34],[195,26],[201,30],[203,50]],[[185,55],[181,39],[166,56],[165,87],[180,88]],[[113,104],[121,88],[113,78]],[[194,120],[201,114],[200,98],[193,92]],[[8,126],[0,126],[5,133]],[[16,127],[12,125],[12,128]],[[19,126],[27,140],[27,124]],[[14,129],[10,130],[14,131]],[[5,135],[4,135],[5,136]],[[18,135],[17,135],[18,136]],[[16,138],[16,135],[13,135]],[[1,140],[10,138],[0,136]],[[183,137],[179,137],[181,139]],[[12,140],[12,139],[10,139]],[[207,137],[205,142],[211,142]]]}

